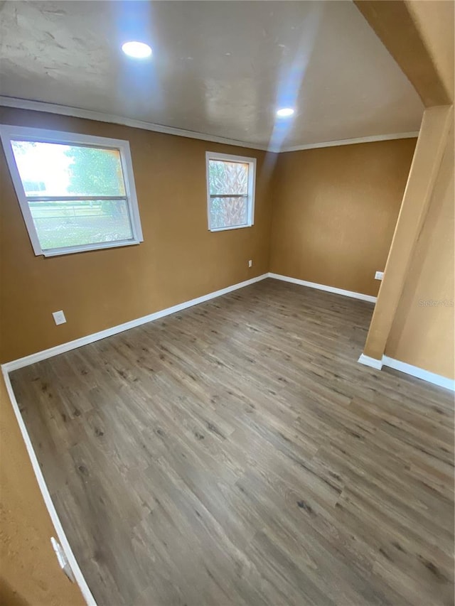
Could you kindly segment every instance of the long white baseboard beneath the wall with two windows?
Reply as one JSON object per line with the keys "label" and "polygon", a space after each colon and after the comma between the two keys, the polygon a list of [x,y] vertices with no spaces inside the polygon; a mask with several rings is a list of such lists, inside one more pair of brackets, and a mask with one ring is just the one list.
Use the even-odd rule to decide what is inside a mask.
{"label": "long white baseboard beneath the wall with two windows", "polygon": [[178,305],[173,305],[172,307],[156,311],[155,313],[144,315],[142,316],[142,318],[130,320],[129,322],[124,322],[123,324],[113,326],[112,328],[106,328],[106,330],[94,332],[92,335],[87,335],[86,337],[80,337],[79,339],[68,341],[66,343],[62,343],[61,345],[56,345],[55,347],[50,347],[48,350],[43,350],[41,352],[36,352],[35,354],[12,360],[11,362],[6,362],[5,364],[1,364],[1,369],[3,370],[3,372],[11,372],[12,370],[23,368],[24,366],[28,366],[29,364],[40,362],[43,359],[48,359],[50,357],[63,354],[65,352],[69,352],[70,350],[75,350],[77,349],[77,347],[82,347],[82,345],[87,345],[88,343],[99,341],[101,339],[105,339],[106,337],[111,337],[112,335],[117,335],[118,332],[129,330],[129,328],[135,328],[136,326],[140,326],[141,324],[153,322],[153,320],[158,320],[159,318],[164,318],[165,315],[170,315],[171,313],[176,313],[177,311],[192,307],[193,305],[198,305],[199,303],[210,301],[210,299],[220,297],[221,295],[231,293],[232,291],[237,291],[238,288],[250,286],[250,284],[254,284],[255,282],[264,280],[267,277],[268,274],[262,274],[261,276],[257,276],[257,278],[251,278],[250,280],[245,280],[245,282],[239,282],[237,284],[232,284],[232,286],[221,288],[220,291],[208,293],[207,295],[203,295],[196,299],[191,299],[191,301],[184,301],[183,303],[178,303]]}

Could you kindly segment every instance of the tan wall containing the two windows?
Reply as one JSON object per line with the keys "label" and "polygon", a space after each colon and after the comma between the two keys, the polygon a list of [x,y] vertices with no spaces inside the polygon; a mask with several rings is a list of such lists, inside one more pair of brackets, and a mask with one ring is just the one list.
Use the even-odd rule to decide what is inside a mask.
{"label": "tan wall containing the two windows", "polygon": [[[0,362],[140,318],[269,269],[274,155],[127,126],[0,109],[0,122],[128,139],[144,242],[44,259],[33,254],[1,151]],[[205,151],[257,158],[255,225],[211,233]],[[248,269],[248,259],[253,260]],[[19,271],[18,271],[19,270]],[[51,313],[63,309],[67,323]]]}

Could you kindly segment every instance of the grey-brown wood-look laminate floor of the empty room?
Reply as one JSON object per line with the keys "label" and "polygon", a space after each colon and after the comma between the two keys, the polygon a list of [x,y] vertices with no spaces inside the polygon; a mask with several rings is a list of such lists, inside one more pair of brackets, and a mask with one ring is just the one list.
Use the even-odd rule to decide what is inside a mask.
{"label": "grey-brown wood-look laminate floor of the empty room", "polygon": [[372,311],[269,279],[12,374],[100,606],[453,604],[453,396]]}

